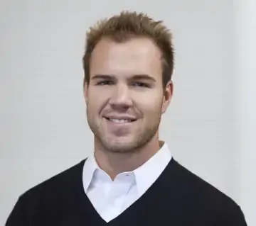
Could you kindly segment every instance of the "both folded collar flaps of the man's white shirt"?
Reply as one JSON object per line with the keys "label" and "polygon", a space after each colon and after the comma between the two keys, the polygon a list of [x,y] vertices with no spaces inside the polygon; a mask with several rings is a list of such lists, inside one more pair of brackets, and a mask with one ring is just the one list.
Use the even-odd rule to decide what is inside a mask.
{"label": "both folded collar flaps of the man's white shirt", "polygon": [[[142,196],[142,194],[154,183],[154,181],[156,181],[171,160],[171,152],[168,145],[166,142],[161,143],[163,143],[163,145],[159,151],[156,152],[156,154],[154,154],[154,156],[142,166],[139,166],[139,168],[133,171],[139,196]],[[97,165],[94,154],[91,154],[86,159],[82,171],[82,183],[85,193],[87,193],[87,189],[89,188],[97,169],[102,171]]]}

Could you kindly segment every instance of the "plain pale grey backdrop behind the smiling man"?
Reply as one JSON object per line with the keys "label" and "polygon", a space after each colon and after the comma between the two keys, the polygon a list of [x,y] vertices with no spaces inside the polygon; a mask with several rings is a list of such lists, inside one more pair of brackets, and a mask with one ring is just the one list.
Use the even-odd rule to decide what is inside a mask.
{"label": "plain pale grey backdrop behind the smiling man", "polygon": [[1,0],[0,225],[21,193],[92,152],[82,96],[85,32],[122,10],[164,20],[174,34],[174,97],[161,138],[178,162],[237,201],[248,224],[256,225],[256,82],[249,45],[256,39],[250,33],[255,23],[247,19],[255,6],[233,4]]}

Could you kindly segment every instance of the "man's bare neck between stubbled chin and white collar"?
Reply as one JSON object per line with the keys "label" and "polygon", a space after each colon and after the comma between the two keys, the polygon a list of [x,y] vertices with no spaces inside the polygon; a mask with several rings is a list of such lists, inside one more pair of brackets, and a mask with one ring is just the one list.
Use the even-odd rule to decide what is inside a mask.
{"label": "man's bare neck between stubbled chin and white collar", "polygon": [[159,151],[161,145],[156,135],[144,147],[131,152],[109,152],[95,141],[95,159],[100,168],[114,180],[117,174],[142,166]]}

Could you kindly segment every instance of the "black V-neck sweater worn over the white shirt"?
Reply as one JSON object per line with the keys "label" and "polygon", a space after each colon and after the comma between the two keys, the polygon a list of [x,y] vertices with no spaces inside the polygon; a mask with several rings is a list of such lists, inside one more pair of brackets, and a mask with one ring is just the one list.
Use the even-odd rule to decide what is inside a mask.
{"label": "black V-neck sweater worn over the white shirt", "polygon": [[240,207],[233,200],[174,159],[141,198],[107,223],[85,195],[82,186],[84,163],[85,160],[24,193],[6,225],[246,225]]}

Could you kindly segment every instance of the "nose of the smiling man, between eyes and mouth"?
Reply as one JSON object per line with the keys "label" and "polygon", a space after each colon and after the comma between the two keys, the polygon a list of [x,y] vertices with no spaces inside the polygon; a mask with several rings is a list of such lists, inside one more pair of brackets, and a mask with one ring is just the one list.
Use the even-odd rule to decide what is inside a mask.
{"label": "nose of the smiling man, between eyes and mouth", "polygon": [[132,106],[132,98],[129,94],[129,87],[127,87],[125,84],[117,84],[114,86],[109,103],[113,109],[127,109]]}

